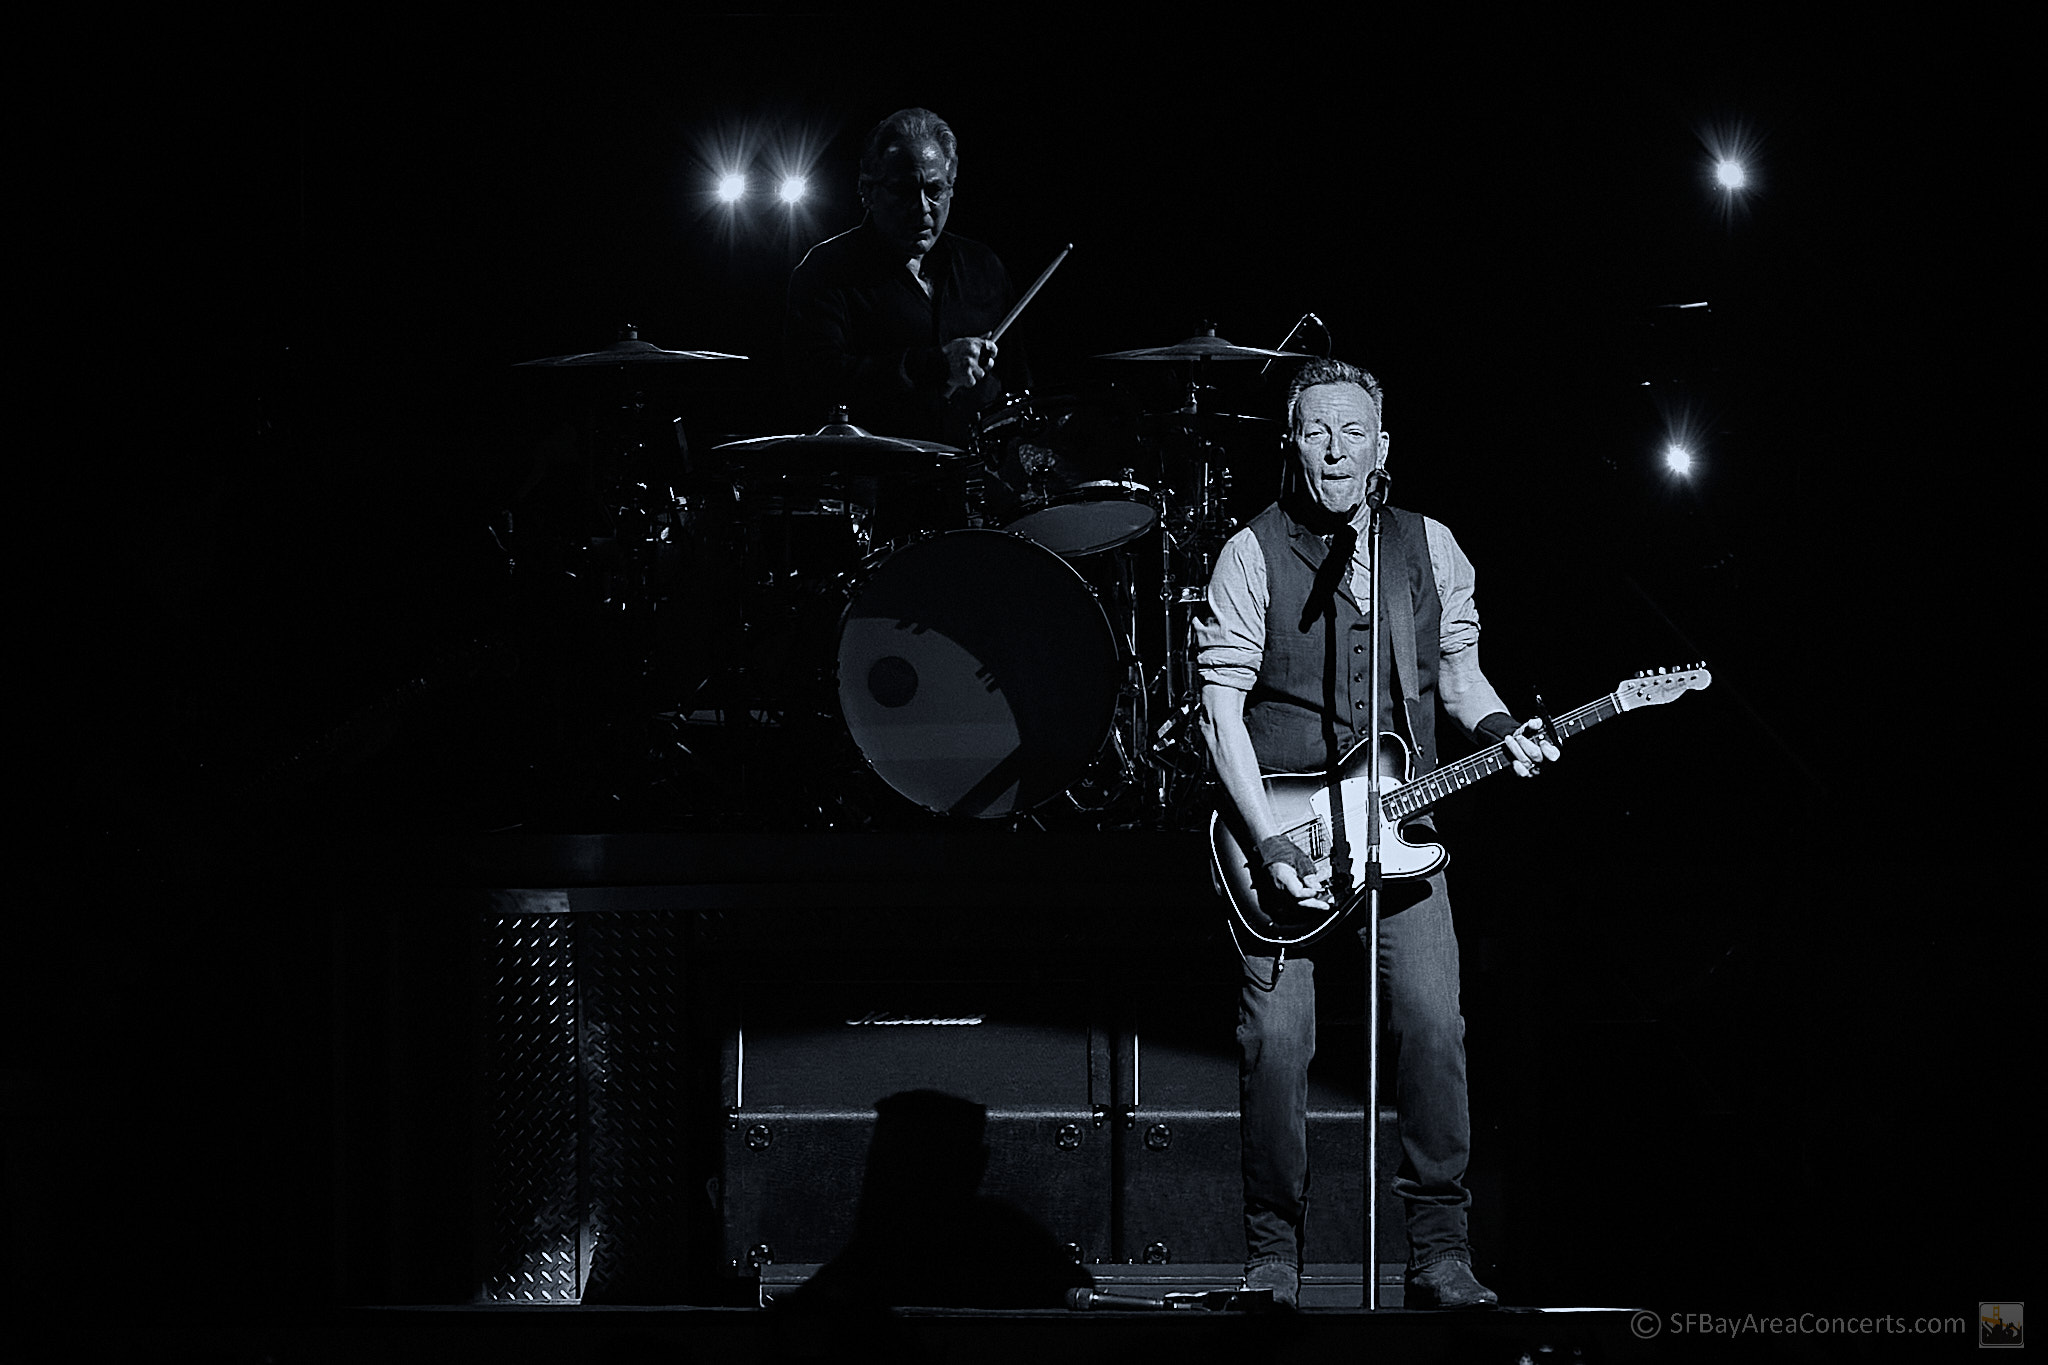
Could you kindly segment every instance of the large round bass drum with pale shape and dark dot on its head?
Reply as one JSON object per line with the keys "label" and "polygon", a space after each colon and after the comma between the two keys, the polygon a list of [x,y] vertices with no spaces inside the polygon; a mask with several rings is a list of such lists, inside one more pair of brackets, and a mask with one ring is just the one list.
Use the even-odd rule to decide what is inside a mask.
{"label": "large round bass drum with pale shape and dark dot on its head", "polygon": [[883,782],[944,814],[1006,817],[1073,786],[1110,735],[1122,675],[1087,583],[999,530],[899,548],[840,616],[846,729]]}

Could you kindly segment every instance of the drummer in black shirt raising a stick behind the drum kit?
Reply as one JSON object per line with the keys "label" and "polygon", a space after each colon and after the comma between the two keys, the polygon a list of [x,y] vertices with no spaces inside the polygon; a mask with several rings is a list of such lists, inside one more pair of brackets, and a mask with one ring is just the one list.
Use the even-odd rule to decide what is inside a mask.
{"label": "drummer in black shirt raising a stick behind the drum kit", "polygon": [[883,119],[860,147],[852,231],[819,241],[788,280],[784,360],[797,420],[967,446],[973,417],[1030,387],[987,334],[1016,293],[995,252],[946,231],[961,158],[928,108]]}

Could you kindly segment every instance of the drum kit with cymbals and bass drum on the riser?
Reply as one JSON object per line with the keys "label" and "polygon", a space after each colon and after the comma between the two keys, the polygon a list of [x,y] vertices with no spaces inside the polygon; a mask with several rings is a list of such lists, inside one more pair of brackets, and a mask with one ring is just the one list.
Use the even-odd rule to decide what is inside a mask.
{"label": "drum kit with cymbals and bass drum on the riser", "polygon": [[[637,379],[739,358],[629,332],[526,364]],[[578,546],[600,567],[586,571],[586,602],[688,618],[680,639],[645,634],[649,653],[688,655],[659,698],[670,743],[778,769],[692,782],[801,790],[797,804],[825,825],[889,810],[1200,819],[1192,628],[1237,526],[1229,448],[1278,450],[1276,420],[1208,411],[1210,366],[1305,356],[1208,332],[1096,358],[1153,368],[1087,397],[1010,395],[979,413],[965,448],[868,432],[844,409],[696,460],[645,440],[645,424],[614,442],[625,456],[596,481],[606,536]],[[707,743],[707,726],[725,741]]]}

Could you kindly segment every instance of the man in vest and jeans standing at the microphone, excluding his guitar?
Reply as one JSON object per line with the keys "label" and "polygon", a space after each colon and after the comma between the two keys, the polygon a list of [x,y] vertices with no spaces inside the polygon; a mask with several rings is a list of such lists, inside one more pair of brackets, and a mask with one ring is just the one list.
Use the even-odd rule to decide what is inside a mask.
{"label": "man in vest and jeans standing at the microphone, excluding his guitar", "polygon": [[[1245,1285],[1292,1304],[1309,1189],[1309,1060],[1315,1054],[1315,970],[1356,925],[1331,917],[1350,866],[1331,886],[1313,849],[1282,829],[1266,774],[1327,774],[1362,741],[1395,737],[1419,769],[1436,767],[1436,710],[1468,735],[1505,745],[1520,776],[1559,749],[1542,720],[1518,722],[1479,667],[1473,565],[1438,522],[1389,508],[1382,518],[1380,694],[1366,657],[1368,491],[1384,479],[1389,438],[1378,381],[1339,360],[1309,360],[1288,391],[1290,456],[1280,499],[1217,557],[1196,628],[1202,735],[1217,763],[1231,827],[1219,847],[1249,849],[1260,907],[1233,925],[1243,956],[1239,1101],[1245,1183]],[[1384,495],[1378,493],[1382,499]],[[1405,774],[1395,767],[1389,780]],[[1327,849],[1321,851],[1329,866]],[[1341,909],[1341,907],[1337,907]],[[1276,931],[1260,937],[1260,915]],[[1284,929],[1335,919],[1331,933],[1290,950]],[[1444,874],[1386,882],[1378,927],[1386,1031],[1401,1113],[1397,1193],[1407,1205],[1411,1308],[1485,1308],[1495,1293],[1473,1275],[1464,1189],[1470,1119],[1458,939]],[[1370,1267],[1368,1267],[1370,1273]],[[1370,1283],[1370,1279],[1368,1279]]]}

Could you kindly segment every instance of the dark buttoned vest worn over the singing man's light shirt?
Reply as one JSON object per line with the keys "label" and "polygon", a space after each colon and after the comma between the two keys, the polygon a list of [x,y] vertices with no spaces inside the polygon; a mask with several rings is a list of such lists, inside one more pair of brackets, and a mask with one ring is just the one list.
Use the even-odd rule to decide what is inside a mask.
{"label": "dark buttoned vest worn over the singing man's light shirt", "polygon": [[[1413,512],[1389,508],[1380,534],[1380,681],[1368,698],[1366,618],[1352,598],[1352,575],[1329,565],[1335,593],[1317,589],[1327,546],[1278,503],[1251,518],[1266,555],[1266,653],[1245,698],[1245,729],[1266,772],[1323,772],[1368,737],[1376,716],[1415,749],[1417,772],[1436,767],[1436,667],[1442,653],[1442,602],[1430,569],[1430,540]],[[1364,546],[1360,546],[1360,555]],[[1311,598],[1317,602],[1311,604]],[[1329,669],[1331,610],[1337,665]],[[1399,641],[1395,636],[1401,636]],[[1333,675],[1331,675],[1333,673]],[[1395,702],[1401,700],[1397,720]],[[1327,722],[1327,724],[1325,724]]]}

